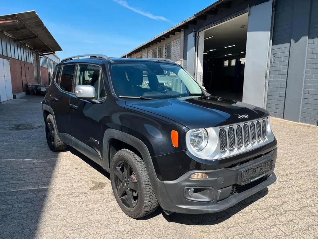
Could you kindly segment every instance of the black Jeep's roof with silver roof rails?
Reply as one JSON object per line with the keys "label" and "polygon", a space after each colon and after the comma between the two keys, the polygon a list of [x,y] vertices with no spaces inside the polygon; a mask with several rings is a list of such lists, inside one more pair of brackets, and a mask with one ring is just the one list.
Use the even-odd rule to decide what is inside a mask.
{"label": "black Jeep's roof with silver roof rails", "polygon": [[93,63],[93,64],[101,64],[105,60],[110,60],[112,62],[160,62],[160,63],[168,63],[168,64],[176,64],[175,62],[168,62],[168,61],[158,61],[153,59],[147,58],[117,58],[117,57],[110,57],[108,59],[99,59],[99,58],[83,58],[83,59],[74,59],[60,62],[60,65],[70,64],[70,63]]}

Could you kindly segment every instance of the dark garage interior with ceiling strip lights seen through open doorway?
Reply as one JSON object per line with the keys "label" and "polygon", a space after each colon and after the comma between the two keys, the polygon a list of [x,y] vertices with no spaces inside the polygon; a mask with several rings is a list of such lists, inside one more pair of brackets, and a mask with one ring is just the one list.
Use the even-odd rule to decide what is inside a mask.
{"label": "dark garage interior with ceiling strip lights seen through open doorway", "polygon": [[242,101],[247,13],[204,31],[203,86],[210,94]]}

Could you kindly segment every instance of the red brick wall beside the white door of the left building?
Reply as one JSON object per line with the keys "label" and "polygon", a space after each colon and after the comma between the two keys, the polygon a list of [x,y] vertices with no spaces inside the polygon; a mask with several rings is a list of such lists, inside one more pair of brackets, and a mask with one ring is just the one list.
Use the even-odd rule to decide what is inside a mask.
{"label": "red brick wall beside the white door of the left building", "polygon": [[[26,83],[34,84],[33,64],[0,55],[10,60],[11,85],[13,95],[26,91]],[[22,68],[22,69],[21,69]]]}

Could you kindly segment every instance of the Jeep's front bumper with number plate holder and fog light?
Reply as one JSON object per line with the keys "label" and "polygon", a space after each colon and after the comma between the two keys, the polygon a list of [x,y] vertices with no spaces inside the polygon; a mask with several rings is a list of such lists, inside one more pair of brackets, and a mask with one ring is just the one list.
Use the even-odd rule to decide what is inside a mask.
{"label": "Jeep's front bumper with number plate holder and fog light", "polygon": [[[175,154],[175,155],[174,155]],[[174,156],[173,156],[174,155]],[[158,161],[162,161],[164,156]],[[252,150],[244,155],[224,159],[219,164],[204,164],[192,159],[189,153],[173,153],[166,155],[165,172],[177,168],[173,158],[182,161],[190,159],[189,166],[197,170],[189,170],[175,180],[162,181],[156,175],[150,175],[153,187],[161,207],[166,213],[215,213],[242,201],[276,181],[274,171],[277,157],[277,141]],[[220,160],[222,161],[222,160]],[[236,162],[233,164],[233,162]],[[155,170],[157,161],[154,162]],[[217,163],[217,162],[213,162]],[[208,170],[199,170],[206,168]],[[212,170],[212,168],[215,168]],[[177,170],[176,170],[177,171]],[[204,173],[207,178],[190,178],[192,175]],[[160,177],[161,175],[159,175]]]}

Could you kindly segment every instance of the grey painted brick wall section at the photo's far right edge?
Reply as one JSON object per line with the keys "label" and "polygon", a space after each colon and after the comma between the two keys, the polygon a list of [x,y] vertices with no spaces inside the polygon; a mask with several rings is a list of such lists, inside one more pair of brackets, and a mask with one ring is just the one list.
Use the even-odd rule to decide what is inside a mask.
{"label": "grey painted brick wall section at the photo's far right edge", "polygon": [[318,0],[312,1],[300,121],[318,123]]}

